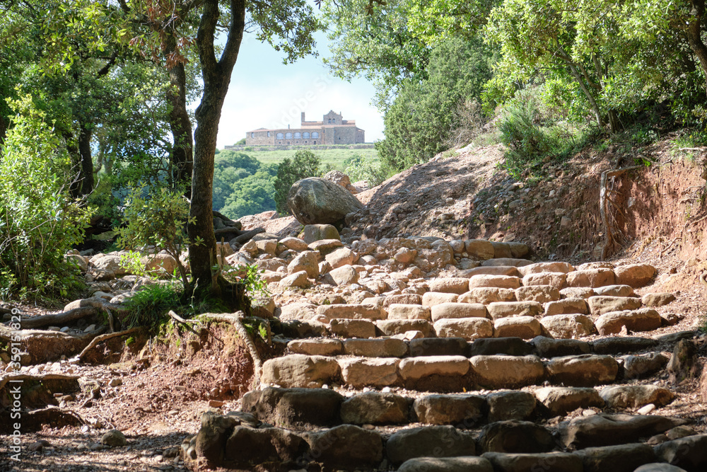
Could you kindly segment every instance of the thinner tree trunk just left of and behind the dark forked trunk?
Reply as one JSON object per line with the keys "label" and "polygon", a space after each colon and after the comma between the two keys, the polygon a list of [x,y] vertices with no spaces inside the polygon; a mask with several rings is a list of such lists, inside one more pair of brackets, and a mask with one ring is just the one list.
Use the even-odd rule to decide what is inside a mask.
{"label": "thinner tree trunk just left of and behind the dark forked trunk", "polygon": [[[175,52],[177,40],[170,29],[165,54]],[[191,193],[189,180],[192,178],[193,146],[192,122],[187,113],[187,74],[182,62],[170,67],[170,88],[167,90],[167,101],[172,106],[169,120],[172,131],[173,149],[170,156],[172,163],[172,178],[176,185],[185,185],[187,196]]]}

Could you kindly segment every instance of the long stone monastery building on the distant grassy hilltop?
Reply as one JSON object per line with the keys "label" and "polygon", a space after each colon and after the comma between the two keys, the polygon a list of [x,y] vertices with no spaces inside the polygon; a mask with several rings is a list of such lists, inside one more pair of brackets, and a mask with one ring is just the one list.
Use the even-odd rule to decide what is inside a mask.
{"label": "long stone monastery building on the distant grassy hilltop", "polygon": [[253,129],[245,134],[246,146],[293,146],[297,144],[363,144],[363,129],[355,120],[344,120],[330,111],[322,121],[305,121],[298,129]]}

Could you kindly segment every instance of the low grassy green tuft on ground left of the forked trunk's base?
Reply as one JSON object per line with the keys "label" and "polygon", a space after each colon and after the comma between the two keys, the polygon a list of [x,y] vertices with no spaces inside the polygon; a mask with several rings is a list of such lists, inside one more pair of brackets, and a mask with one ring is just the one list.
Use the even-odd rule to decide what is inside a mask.
{"label": "low grassy green tuft on ground left of the forked trunk's base", "polygon": [[125,301],[127,328],[145,326],[153,330],[167,318],[170,309],[183,310],[183,289],[178,282],[149,284]]}

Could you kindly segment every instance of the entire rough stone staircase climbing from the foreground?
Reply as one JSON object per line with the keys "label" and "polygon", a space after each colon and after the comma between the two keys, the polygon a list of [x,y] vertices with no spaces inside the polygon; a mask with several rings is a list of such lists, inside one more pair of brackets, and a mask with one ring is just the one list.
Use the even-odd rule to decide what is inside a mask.
{"label": "entire rough stone staircase climbing from the foreground", "polygon": [[[474,241],[449,245],[467,256],[469,248],[489,251]],[[513,255],[510,248],[522,253],[502,249]],[[187,463],[248,471],[704,470],[707,434],[651,414],[675,398],[655,380],[670,360],[665,353],[696,335],[650,334],[677,322],[662,308],[672,294],[634,292],[653,280],[654,267],[496,257],[423,277],[417,265],[405,266],[412,258],[382,270],[379,257],[357,256],[366,265],[343,267],[358,278],[337,285],[366,287],[369,296],[282,304],[272,325],[285,354],[264,362],[261,386],[240,411],[204,413],[199,433],[182,444]],[[380,274],[390,290],[370,296],[381,279],[367,277]]]}

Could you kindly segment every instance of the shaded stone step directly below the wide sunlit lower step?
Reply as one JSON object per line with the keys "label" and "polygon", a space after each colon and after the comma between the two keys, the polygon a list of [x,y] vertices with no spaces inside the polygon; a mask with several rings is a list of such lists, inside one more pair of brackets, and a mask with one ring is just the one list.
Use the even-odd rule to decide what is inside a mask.
{"label": "shaded stone step directly below the wide sunlit lower step", "polygon": [[408,397],[368,391],[344,396],[328,388],[275,388],[251,391],[243,411],[277,427],[307,428],[350,425],[455,425],[478,427],[496,421],[542,420],[564,416],[578,408],[636,410],[662,407],[674,398],[655,385],[543,387],[528,391],[432,394]]}

